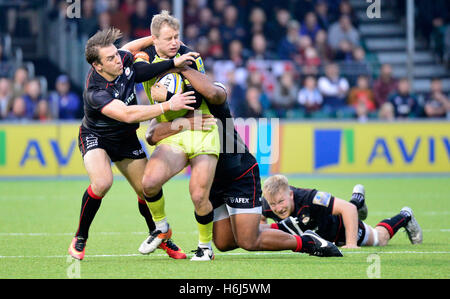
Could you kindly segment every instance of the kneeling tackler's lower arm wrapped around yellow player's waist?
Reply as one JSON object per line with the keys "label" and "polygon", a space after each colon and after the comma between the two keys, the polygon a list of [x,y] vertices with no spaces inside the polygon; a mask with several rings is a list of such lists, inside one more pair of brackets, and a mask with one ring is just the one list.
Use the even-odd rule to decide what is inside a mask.
{"label": "kneeling tackler's lower arm wrapped around yellow player's waist", "polygon": [[145,138],[150,145],[180,133],[185,130],[209,131],[216,124],[216,119],[211,114],[194,114],[188,112],[185,117],[174,119],[170,122],[158,123],[156,119],[150,122]]}

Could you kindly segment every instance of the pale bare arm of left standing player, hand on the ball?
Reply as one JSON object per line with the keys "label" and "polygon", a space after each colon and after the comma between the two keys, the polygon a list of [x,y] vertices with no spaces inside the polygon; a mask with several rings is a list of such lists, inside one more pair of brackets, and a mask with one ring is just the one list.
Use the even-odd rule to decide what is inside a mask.
{"label": "pale bare arm of left standing player, hand on the ball", "polygon": [[106,104],[101,112],[109,118],[125,122],[137,123],[155,118],[167,111],[178,111],[182,109],[193,110],[188,106],[195,102],[193,92],[185,92],[174,95],[170,101],[157,105],[131,105],[127,106],[120,100],[114,99]]}

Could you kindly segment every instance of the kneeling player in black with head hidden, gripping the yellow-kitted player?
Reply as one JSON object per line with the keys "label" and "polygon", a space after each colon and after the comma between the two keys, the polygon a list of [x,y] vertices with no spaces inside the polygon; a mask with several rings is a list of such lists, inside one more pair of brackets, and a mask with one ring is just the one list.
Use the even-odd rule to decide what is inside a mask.
{"label": "kneeling player in black with head hidden, gripping the yellow-kitted player", "polygon": [[[225,91],[222,84],[212,82],[209,77],[196,70],[185,68],[181,73],[202,95]],[[218,94],[223,94],[223,103],[208,104],[210,112],[218,119],[221,135],[221,153],[209,195],[209,200],[214,207],[213,241],[215,246],[221,251],[240,247],[249,251],[292,250],[315,256],[342,256],[334,244],[320,238],[312,231],[306,231],[298,236],[269,227],[260,229],[259,166],[234,127],[230,109],[225,101],[226,93]],[[194,123],[201,124],[205,117],[207,116],[197,116]],[[147,141],[153,145],[167,136],[192,129],[189,126],[183,126],[183,123],[188,122],[183,119],[165,123],[152,120]],[[198,249],[195,255],[204,260],[214,258],[211,247]]]}

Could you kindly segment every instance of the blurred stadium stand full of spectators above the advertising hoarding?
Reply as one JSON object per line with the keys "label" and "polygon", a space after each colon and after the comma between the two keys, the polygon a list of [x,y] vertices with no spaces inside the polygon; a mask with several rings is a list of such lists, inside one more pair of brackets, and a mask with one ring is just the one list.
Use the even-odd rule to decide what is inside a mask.
{"label": "blurred stadium stand full of spectators above the advertising hoarding", "polygon": [[[83,0],[74,17],[71,3],[0,0],[1,120],[80,118],[88,37],[110,26],[122,30],[122,44],[148,35],[151,16],[172,5]],[[414,74],[403,93],[397,82],[407,77],[405,4],[381,3],[382,17],[370,19],[368,4],[358,0],[188,0],[183,41],[228,86],[235,117],[450,119],[449,2],[416,1]],[[330,65],[347,82],[343,90],[327,74]],[[67,84],[64,93],[58,82]],[[330,105],[333,89],[339,107]],[[414,114],[396,113],[409,96]]]}

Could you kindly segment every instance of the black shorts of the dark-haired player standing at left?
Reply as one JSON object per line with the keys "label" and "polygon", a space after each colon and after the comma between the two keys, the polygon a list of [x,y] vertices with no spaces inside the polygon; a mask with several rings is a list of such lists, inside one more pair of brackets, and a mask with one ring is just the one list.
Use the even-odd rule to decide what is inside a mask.
{"label": "black shorts of the dark-haired player standing at left", "polygon": [[112,162],[147,157],[136,132],[119,138],[107,138],[95,134],[84,126],[80,126],[78,148],[83,157],[90,150],[96,148],[104,149]]}

